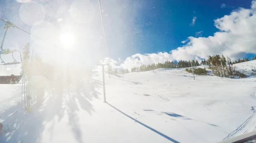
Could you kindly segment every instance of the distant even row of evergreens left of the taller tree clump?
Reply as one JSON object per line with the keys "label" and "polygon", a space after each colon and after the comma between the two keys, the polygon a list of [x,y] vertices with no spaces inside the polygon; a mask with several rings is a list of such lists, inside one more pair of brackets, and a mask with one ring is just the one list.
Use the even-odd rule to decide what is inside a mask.
{"label": "distant even row of evergreens left of the taller tree clump", "polygon": [[199,66],[198,60],[192,60],[190,61],[166,61],[164,63],[157,63],[157,64],[148,64],[148,65],[142,65],[140,67],[133,67],[131,68],[131,72],[142,72],[142,71],[148,71],[153,70],[157,68],[184,68],[184,67],[191,67],[191,63],[193,66]]}

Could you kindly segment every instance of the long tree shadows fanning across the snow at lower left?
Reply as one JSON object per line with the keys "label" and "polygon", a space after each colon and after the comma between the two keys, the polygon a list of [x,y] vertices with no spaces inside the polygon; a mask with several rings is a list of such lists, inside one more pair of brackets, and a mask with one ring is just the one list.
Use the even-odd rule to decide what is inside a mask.
{"label": "long tree shadows fanning across the snow at lower left", "polygon": [[[83,142],[77,112],[79,109],[85,110],[90,115],[94,112],[91,101],[98,98],[100,93],[95,89],[101,88],[102,83],[67,75],[69,74],[65,76],[59,74],[55,79],[44,82],[45,85],[33,84],[31,94],[35,104],[31,106],[32,112],[28,113],[21,108],[20,100],[15,105],[0,111],[0,118],[4,120],[2,122],[4,129],[7,124],[10,129],[13,125],[17,125],[12,132],[0,136],[1,143],[41,143],[43,134],[50,134],[52,140],[54,136],[51,131],[55,123],[61,121],[64,115],[67,115],[68,125],[72,129],[74,138],[79,143]],[[17,90],[14,94],[15,97],[21,97],[21,90]]]}

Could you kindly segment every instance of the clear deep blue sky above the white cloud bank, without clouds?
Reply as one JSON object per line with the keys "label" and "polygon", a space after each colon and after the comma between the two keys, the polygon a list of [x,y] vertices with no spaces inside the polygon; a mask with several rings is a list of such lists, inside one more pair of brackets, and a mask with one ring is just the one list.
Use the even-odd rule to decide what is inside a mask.
{"label": "clear deep blue sky above the white cloud bank, without clouds", "polygon": [[[223,3],[226,6],[221,8]],[[134,42],[137,48],[128,51],[130,55],[169,52],[199,31],[204,37],[213,36],[218,31],[213,20],[239,7],[250,8],[251,0],[141,0],[140,5],[136,24],[142,34],[136,35],[140,38]],[[191,26],[193,17],[196,21]]]}

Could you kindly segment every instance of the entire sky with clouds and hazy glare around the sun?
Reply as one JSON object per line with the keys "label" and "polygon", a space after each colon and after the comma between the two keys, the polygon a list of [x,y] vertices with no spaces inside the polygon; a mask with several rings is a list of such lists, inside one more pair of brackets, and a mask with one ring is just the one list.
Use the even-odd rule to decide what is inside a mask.
{"label": "entire sky with clouds and hazy glare around the sun", "polygon": [[[104,57],[116,61],[121,59],[123,64],[127,64],[126,67],[165,60],[201,59],[212,54],[224,54],[236,59],[256,53],[253,48],[256,44],[253,38],[256,37],[252,32],[256,26],[253,24],[256,21],[252,22],[256,20],[256,14],[252,0],[101,1],[109,55],[106,54],[98,0],[0,1],[0,17],[60,46],[56,42],[58,37],[63,31],[70,30],[75,35],[76,45],[65,50],[75,52],[86,60]],[[238,12],[238,18],[236,13],[231,13],[233,11]],[[253,17],[248,18],[247,15]],[[60,18],[61,21],[58,21]],[[232,20],[238,22],[230,25]],[[0,27],[3,26],[4,23],[0,22]],[[221,34],[216,33],[219,31]],[[3,32],[4,29],[0,28],[1,37]],[[243,40],[246,35],[250,38]],[[188,39],[189,36],[192,38]],[[49,50],[56,50],[54,46],[38,42],[35,37],[17,29],[10,30],[6,40],[7,47],[19,49],[30,42],[35,54],[54,59],[55,55],[49,53]],[[76,55],[73,55],[76,59],[74,57],[77,58]]]}

